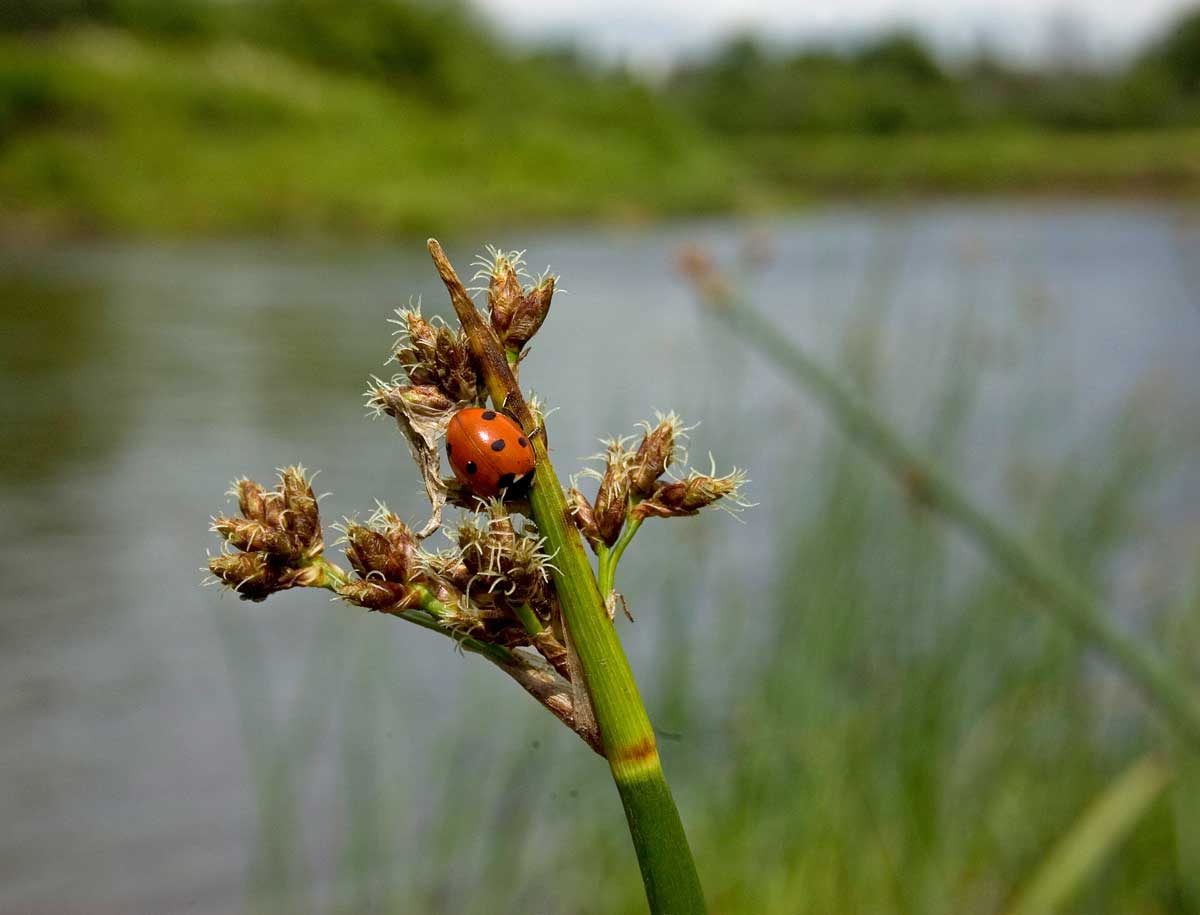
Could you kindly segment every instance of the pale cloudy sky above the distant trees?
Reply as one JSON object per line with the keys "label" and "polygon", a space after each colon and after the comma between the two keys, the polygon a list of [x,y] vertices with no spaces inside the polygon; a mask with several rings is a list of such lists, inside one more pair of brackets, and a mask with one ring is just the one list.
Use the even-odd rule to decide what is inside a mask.
{"label": "pale cloudy sky above the distant trees", "polygon": [[846,40],[911,26],[953,55],[985,44],[1042,61],[1075,49],[1093,60],[1128,54],[1196,0],[474,0],[521,40],[566,40],[605,59],[665,67],[680,53],[750,30],[769,38]]}

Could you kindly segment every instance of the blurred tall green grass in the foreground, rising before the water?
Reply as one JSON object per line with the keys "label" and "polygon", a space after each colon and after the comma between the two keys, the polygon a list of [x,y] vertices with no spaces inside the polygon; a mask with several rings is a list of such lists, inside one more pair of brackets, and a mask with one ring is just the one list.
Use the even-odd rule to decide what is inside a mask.
{"label": "blurred tall green grass in the foreground, rising before the water", "polygon": [[[931,347],[946,353],[938,393],[910,432],[961,471],[976,348],[965,322],[947,333],[954,346]],[[881,343],[864,323],[844,347],[845,373],[870,399],[887,391]],[[1079,453],[1036,474],[1026,467],[1012,494],[1025,527],[1068,548],[1100,592],[1140,540],[1144,496],[1178,458],[1138,415],[1130,406]],[[1025,455],[1014,445],[997,461]],[[728,531],[708,531],[629,592],[640,622],[625,638],[655,640],[647,705],[712,909],[1006,910],[1160,734],[1081,645],[1028,615],[1019,588],[839,437],[821,437],[796,485],[769,497],[787,521],[764,580],[722,564]],[[694,618],[700,593],[715,615]],[[1194,616],[1160,610],[1141,622],[1193,626]],[[445,760],[436,783],[407,784],[407,802],[380,800],[404,776],[385,775],[370,752],[386,702],[365,702],[362,690],[401,683],[404,671],[380,651],[358,663],[341,713],[365,707],[370,718],[343,735],[342,902],[330,910],[642,910],[631,850],[601,806],[611,788],[580,767],[569,735],[530,750],[466,702],[449,744],[430,749]],[[480,687],[470,680],[467,689]],[[1200,911],[1188,886],[1194,797],[1183,790],[1123,824],[1128,836],[1061,910]],[[414,807],[418,796],[431,807]],[[263,841],[294,821],[262,821]],[[386,838],[371,841],[392,832],[420,836],[419,847],[392,854]],[[290,891],[266,887],[259,908]]]}

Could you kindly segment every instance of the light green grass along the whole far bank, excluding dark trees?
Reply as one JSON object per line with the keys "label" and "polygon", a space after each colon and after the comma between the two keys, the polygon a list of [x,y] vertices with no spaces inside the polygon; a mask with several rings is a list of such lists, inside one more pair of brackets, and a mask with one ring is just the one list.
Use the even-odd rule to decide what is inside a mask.
{"label": "light green grass along the whole far bank, excluding dark trees", "polygon": [[335,66],[332,50],[289,47],[248,28],[187,41],[88,25],[0,36],[0,227],[430,234],[823,193],[1200,187],[1188,127],[718,136],[631,78],[552,60],[406,82],[371,58]]}

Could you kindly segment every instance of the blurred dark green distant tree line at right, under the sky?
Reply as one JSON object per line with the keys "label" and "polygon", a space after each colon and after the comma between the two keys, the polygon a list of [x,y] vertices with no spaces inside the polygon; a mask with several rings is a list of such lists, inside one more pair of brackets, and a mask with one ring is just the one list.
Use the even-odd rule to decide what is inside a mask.
{"label": "blurred dark green distant tree line at right, under the sky", "polygon": [[1022,68],[989,54],[950,68],[911,32],[845,50],[774,50],[740,36],[676,67],[667,91],[732,134],[1200,125],[1200,10],[1110,71]]}

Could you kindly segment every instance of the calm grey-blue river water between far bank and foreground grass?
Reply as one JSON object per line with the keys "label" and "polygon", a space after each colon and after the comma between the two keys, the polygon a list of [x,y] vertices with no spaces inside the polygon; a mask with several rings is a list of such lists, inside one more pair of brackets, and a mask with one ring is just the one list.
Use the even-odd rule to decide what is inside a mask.
{"label": "calm grey-blue river water between far bank and foreground grass", "polygon": [[[1130,403],[1196,442],[1200,221],[1170,205],[838,208],[451,245],[463,271],[500,240],[563,277],[523,373],[559,407],[560,471],[654,408],[703,419],[695,462],[712,449],[720,466],[750,468],[762,504],[744,527],[725,516],[664,527],[623,567],[643,604],[666,580],[703,615],[713,575],[684,563],[715,544],[752,590],[828,435],[673,275],[684,243],[733,263],[748,239],[769,252],[748,271],[751,297],[829,363],[845,358],[847,334],[874,346],[906,429],[924,427],[949,378],[978,384],[964,474],[1001,512],[1015,514],[1014,459],[1078,449]],[[409,297],[448,312],[418,241],[0,253],[0,911],[238,909],[253,874],[288,854],[254,842],[258,817],[288,809],[274,794],[287,782],[270,749],[281,743],[305,760],[288,790],[316,885],[344,860],[338,812],[372,803],[337,777],[355,754],[404,773],[379,783],[407,793],[397,803],[410,817],[388,829],[419,854],[433,803],[420,785],[445,766],[514,741],[530,759],[534,743],[574,752],[540,710],[436,636],[316,594],[250,605],[199,587],[216,548],[208,518],[230,508],[222,494],[242,473],[266,479],[302,461],[324,471],[326,521],[374,498],[420,520],[398,436],[361,408],[367,376],[384,371],[390,310]],[[1183,458],[1147,507],[1147,538],[1178,550],[1164,546],[1168,566],[1194,556],[1198,506],[1200,471]],[[664,634],[653,612],[635,614],[628,641],[653,681]],[[352,688],[374,696],[367,724],[336,704]],[[490,724],[464,737],[464,719]],[[578,802],[616,807],[594,769]]]}

